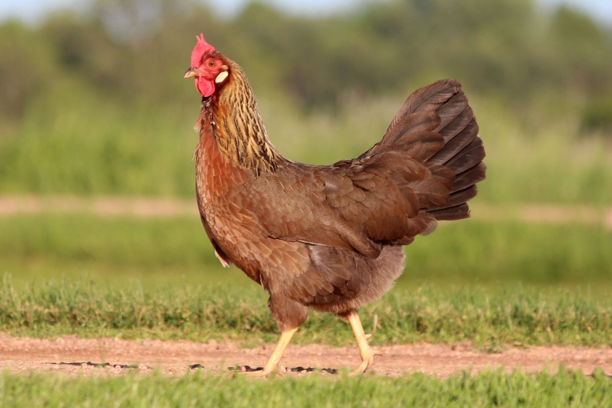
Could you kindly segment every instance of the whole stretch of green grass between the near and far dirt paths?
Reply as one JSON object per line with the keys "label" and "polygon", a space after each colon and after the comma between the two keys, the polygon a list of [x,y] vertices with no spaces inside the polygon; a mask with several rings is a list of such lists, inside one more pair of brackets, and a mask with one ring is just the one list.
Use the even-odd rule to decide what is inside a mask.
{"label": "whole stretch of green grass between the near and far dirt paths", "polygon": [[[255,339],[277,329],[266,294],[220,267],[191,217],[62,213],[0,218],[0,330],[13,335]],[[406,247],[376,314],[377,343],[612,344],[612,231],[578,223],[443,224]],[[348,344],[312,314],[298,341]]]}

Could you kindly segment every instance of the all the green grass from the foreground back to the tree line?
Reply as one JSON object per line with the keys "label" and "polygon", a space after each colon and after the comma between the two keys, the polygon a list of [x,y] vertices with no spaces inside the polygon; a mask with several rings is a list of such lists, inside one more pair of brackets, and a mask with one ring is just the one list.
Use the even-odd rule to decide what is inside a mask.
{"label": "all the green grass from the foreground back to the tree line", "polygon": [[[0,137],[4,194],[193,196],[193,106],[152,113],[62,96],[61,112],[29,109]],[[296,115],[260,100],[272,141],[294,160],[356,157],[384,132],[402,96],[354,100],[344,111]],[[51,100],[54,95],[49,95]],[[477,201],[612,204],[610,139],[575,117],[509,117],[470,95],[487,149]],[[528,116],[529,113],[526,113]],[[534,136],[537,135],[537,136]],[[61,163],[59,165],[58,163]],[[485,219],[486,218],[486,219]],[[501,217],[441,224],[406,247],[395,288],[361,311],[371,343],[471,341],[485,351],[523,344],[612,346],[612,231]],[[0,217],[0,332],[274,342],[266,294],[220,267],[196,217]],[[329,314],[311,313],[296,343],[352,344]],[[609,406],[602,373],[409,374],[390,379],[134,374],[68,378],[0,373],[1,406]]]}

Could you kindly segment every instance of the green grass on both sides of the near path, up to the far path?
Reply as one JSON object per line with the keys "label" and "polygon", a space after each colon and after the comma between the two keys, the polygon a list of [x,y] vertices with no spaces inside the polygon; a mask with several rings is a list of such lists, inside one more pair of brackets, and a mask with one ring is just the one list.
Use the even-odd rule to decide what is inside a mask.
{"label": "green grass on both sides of the near path, up to the far path", "polygon": [[[266,294],[221,269],[191,217],[49,213],[0,218],[0,332],[15,336],[277,340]],[[409,267],[361,311],[372,344],[471,341],[612,346],[612,232],[603,226],[443,224],[406,248]],[[348,325],[311,313],[294,343],[353,344]],[[0,373],[0,406],[580,406],[612,404],[610,377],[485,371],[275,377]]]}

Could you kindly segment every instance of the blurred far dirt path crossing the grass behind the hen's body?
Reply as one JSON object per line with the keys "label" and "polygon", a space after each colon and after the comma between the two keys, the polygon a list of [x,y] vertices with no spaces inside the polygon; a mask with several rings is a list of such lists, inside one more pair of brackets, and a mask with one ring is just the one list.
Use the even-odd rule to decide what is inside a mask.
{"label": "blurred far dirt path crossing the grass behind the hen's body", "polygon": [[[612,208],[548,204],[520,204],[496,207],[470,204],[474,218],[480,220],[526,220],[542,223],[580,222],[603,224],[612,229]],[[23,213],[92,213],[102,217],[198,217],[195,199],[127,198],[75,196],[0,196],[0,217]]]}

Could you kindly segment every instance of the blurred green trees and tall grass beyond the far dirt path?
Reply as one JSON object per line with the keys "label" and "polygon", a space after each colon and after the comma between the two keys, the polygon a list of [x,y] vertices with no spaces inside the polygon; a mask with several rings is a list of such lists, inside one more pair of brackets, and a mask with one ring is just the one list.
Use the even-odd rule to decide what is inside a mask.
{"label": "blurred green trees and tall grass beyond the far dirt path", "polygon": [[232,17],[196,0],[88,0],[2,21],[0,191],[192,196],[200,104],[182,73],[200,32],[244,67],[294,160],[359,155],[409,92],[454,77],[487,146],[483,199],[612,201],[610,28],[535,0],[316,16],[252,2]]}

